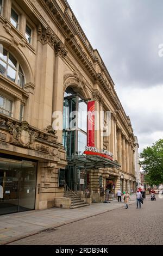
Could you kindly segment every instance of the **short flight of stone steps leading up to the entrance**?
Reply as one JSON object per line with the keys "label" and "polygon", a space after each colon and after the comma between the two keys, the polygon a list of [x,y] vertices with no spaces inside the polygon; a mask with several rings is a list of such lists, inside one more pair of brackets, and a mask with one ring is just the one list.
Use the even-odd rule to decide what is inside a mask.
{"label": "short flight of stone steps leading up to the entrance", "polygon": [[84,206],[89,205],[89,204],[86,204],[84,202],[84,200],[81,199],[80,196],[78,196],[78,195],[76,196],[76,194],[73,193],[72,191],[65,192],[64,197],[67,197],[67,198],[71,199],[70,209],[76,209],[76,208],[79,208],[79,207],[84,207]]}

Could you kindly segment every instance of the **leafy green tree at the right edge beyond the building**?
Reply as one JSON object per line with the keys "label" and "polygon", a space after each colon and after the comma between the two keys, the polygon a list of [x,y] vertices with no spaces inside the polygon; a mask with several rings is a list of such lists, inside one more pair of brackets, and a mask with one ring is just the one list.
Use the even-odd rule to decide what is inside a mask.
{"label": "leafy green tree at the right edge beyond the building", "polygon": [[141,167],[145,170],[145,181],[149,185],[163,183],[163,139],[153,143],[152,147],[143,149],[140,154]]}

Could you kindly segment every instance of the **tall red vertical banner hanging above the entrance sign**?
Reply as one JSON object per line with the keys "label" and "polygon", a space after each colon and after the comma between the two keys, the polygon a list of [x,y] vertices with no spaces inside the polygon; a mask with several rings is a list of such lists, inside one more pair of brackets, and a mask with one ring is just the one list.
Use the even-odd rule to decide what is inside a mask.
{"label": "tall red vertical banner hanging above the entrance sign", "polygon": [[95,147],[95,101],[87,103],[87,146]]}

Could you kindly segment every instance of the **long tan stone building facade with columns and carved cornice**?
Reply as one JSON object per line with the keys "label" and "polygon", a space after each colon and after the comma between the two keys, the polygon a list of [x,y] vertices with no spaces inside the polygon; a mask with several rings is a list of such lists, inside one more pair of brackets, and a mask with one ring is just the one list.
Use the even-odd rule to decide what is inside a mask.
{"label": "long tan stone building facade with columns and carved cornice", "polygon": [[[89,187],[97,200],[105,197],[101,188],[108,184],[114,194],[120,187],[134,188],[130,119],[67,1],[0,0],[0,31],[1,214],[54,206],[64,195],[65,179],[72,190],[75,183],[76,190]],[[86,131],[56,131],[52,115],[63,112],[65,102],[73,104],[74,97],[76,107],[94,100],[96,111],[111,112],[111,135],[96,131],[95,145],[109,150],[119,166],[82,169],[68,160],[79,151],[80,136],[86,144]],[[84,184],[77,182],[82,178]]]}

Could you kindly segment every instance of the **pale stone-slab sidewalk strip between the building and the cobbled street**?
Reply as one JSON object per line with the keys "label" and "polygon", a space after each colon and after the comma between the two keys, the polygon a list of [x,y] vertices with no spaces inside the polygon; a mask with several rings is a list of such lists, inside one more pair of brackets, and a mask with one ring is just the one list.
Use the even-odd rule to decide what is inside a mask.
{"label": "pale stone-slab sidewalk strip between the building and the cobbled street", "polygon": [[[135,195],[131,196],[129,204],[133,203],[136,204]],[[124,207],[123,202],[118,203],[115,199],[110,203],[93,203],[77,209],[51,208],[2,215],[0,216],[0,244],[7,244],[22,237],[37,234],[44,229],[59,227]]]}

